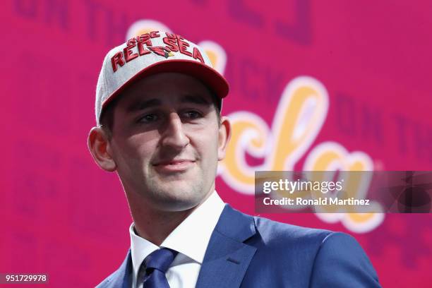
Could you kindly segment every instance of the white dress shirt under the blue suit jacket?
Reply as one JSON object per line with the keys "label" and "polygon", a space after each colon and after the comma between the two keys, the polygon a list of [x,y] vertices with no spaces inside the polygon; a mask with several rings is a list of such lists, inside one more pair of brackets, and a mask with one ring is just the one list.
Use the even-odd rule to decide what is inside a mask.
{"label": "white dress shirt under the blue suit jacket", "polygon": [[[179,252],[165,273],[169,287],[195,287],[210,236],[223,209],[224,202],[214,191],[162,242],[160,247],[171,248]],[[160,247],[138,236],[133,229],[133,223],[129,228],[129,234],[131,234],[133,265],[132,288],[142,288],[144,275],[143,272],[140,272],[138,277],[140,265],[145,257]]]}

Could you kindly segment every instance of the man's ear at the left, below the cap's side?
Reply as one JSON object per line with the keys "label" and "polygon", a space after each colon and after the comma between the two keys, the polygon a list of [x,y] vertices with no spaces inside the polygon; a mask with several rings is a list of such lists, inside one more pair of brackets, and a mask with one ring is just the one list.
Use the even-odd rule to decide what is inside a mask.
{"label": "man's ear at the left, below the cap's side", "polygon": [[88,149],[95,162],[108,172],[116,170],[117,165],[112,158],[107,131],[100,127],[93,127],[88,134]]}

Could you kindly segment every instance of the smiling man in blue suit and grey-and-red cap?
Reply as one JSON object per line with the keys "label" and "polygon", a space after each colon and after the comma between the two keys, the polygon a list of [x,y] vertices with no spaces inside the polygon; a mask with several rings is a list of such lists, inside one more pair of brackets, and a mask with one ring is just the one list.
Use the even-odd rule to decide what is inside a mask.
{"label": "smiling man in blue suit and grey-and-red cap", "polygon": [[222,202],[227,93],[203,49],[179,35],[150,32],[105,57],[88,145],[119,175],[133,224],[124,263],[98,287],[379,287],[351,236]]}

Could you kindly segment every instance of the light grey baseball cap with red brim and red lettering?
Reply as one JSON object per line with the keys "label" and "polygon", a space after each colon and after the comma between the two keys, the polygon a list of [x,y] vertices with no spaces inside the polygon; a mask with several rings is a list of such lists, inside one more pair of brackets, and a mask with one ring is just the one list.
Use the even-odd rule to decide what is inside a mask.
{"label": "light grey baseball cap with red brim and red lettering", "polygon": [[104,107],[124,88],[135,80],[163,72],[197,78],[220,98],[221,104],[229,91],[227,80],[212,67],[208,55],[197,44],[170,32],[148,32],[111,49],[105,56],[96,87],[97,125]]}

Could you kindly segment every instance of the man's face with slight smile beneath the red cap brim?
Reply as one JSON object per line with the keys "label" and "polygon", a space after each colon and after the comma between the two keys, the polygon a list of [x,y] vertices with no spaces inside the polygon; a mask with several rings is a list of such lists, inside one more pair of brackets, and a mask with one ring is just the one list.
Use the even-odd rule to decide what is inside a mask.
{"label": "man's face with slight smile beneath the red cap brim", "polygon": [[228,126],[226,119],[219,124],[203,83],[160,73],[122,93],[107,151],[129,199],[156,210],[187,210],[214,189]]}

